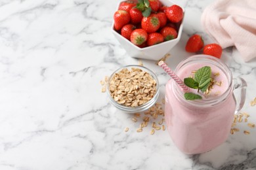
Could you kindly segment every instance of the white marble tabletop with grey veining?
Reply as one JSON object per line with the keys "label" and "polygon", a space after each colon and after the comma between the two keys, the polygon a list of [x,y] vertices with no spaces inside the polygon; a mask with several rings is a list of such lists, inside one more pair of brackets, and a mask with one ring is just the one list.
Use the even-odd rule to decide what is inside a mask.
{"label": "white marble tabletop with grey veining", "polygon": [[[175,0],[186,10],[181,41],[167,64],[191,54],[190,35],[200,33],[203,9],[213,0]],[[256,128],[198,155],[180,152],[167,131],[137,133],[133,116],[111,105],[100,80],[139,63],[110,31],[117,1],[0,1],[0,169],[256,169]],[[242,112],[256,123],[256,59],[244,63],[236,48],[223,52],[234,76],[248,84]],[[169,76],[142,60],[160,80],[160,100]],[[125,127],[129,131],[125,133]],[[250,135],[242,131],[247,129]]]}

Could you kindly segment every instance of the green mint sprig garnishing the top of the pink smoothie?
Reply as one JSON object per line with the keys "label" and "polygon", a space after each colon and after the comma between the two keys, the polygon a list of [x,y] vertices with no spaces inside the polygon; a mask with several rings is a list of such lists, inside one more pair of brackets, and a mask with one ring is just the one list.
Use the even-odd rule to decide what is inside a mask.
{"label": "green mint sprig garnishing the top of the pink smoothie", "polygon": [[[184,84],[189,88],[198,89],[201,92],[205,92],[211,82],[211,67],[205,66],[196,71],[194,78],[184,78]],[[195,93],[184,93],[186,100],[202,99],[201,95]]]}

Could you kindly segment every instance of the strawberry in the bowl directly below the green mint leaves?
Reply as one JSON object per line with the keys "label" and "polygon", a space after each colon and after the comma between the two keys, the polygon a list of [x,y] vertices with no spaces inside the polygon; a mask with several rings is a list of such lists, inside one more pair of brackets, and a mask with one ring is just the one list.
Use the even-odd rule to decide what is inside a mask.
{"label": "strawberry in the bowl directly below the green mint leaves", "polygon": [[156,14],[150,14],[150,16],[142,18],[141,27],[147,33],[154,33],[160,28],[160,20]]}

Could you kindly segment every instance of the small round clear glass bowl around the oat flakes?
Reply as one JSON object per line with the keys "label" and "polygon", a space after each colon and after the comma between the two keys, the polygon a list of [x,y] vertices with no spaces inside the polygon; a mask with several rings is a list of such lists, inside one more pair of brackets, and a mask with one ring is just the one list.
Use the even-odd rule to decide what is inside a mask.
{"label": "small round clear glass bowl around the oat flakes", "polygon": [[[144,103],[143,105],[139,105],[137,107],[128,107],[128,106],[121,105],[121,104],[117,103],[117,101],[115,101],[113,99],[113,97],[111,96],[111,93],[110,93],[110,81],[112,80],[113,76],[116,73],[119,73],[119,71],[121,71],[122,69],[129,69],[129,71],[131,71],[131,68],[141,69],[142,71],[145,71],[146,73],[151,75],[152,78],[154,78],[154,80],[156,80],[156,93],[154,94],[154,97],[152,97],[152,99],[150,99],[148,102]],[[116,71],[114,71],[114,73],[112,73],[112,75],[108,79],[108,84],[107,84],[106,91],[108,93],[108,97],[110,98],[111,103],[117,109],[122,110],[123,112],[135,113],[135,112],[143,112],[144,110],[147,110],[150,107],[152,107],[152,105],[154,105],[156,103],[157,99],[158,99],[158,96],[159,96],[159,93],[160,93],[159,89],[160,89],[160,86],[159,86],[159,82],[158,82],[158,77],[155,75],[155,73],[153,71],[151,71],[150,69],[148,69],[144,66],[140,66],[140,65],[126,65],[124,67],[121,67],[121,68],[117,69]]]}

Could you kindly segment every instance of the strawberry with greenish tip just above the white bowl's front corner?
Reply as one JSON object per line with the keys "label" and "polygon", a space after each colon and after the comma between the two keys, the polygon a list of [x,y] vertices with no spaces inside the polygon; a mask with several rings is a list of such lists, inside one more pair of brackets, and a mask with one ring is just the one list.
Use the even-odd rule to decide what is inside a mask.
{"label": "strawberry with greenish tip just above the white bowl's front corner", "polygon": [[137,46],[143,44],[148,39],[148,33],[144,29],[135,29],[131,33],[131,42]]}

